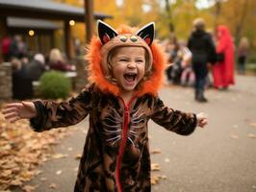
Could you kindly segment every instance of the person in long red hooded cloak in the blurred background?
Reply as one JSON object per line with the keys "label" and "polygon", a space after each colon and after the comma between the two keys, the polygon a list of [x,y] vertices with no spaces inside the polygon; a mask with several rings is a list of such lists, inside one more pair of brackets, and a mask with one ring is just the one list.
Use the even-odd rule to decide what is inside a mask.
{"label": "person in long red hooded cloak in the blurred background", "polygon": [[224,25],[217,28],[218,61],[213,66],[214,87],[227,89],[234,80],[234,44],[229,29]]}

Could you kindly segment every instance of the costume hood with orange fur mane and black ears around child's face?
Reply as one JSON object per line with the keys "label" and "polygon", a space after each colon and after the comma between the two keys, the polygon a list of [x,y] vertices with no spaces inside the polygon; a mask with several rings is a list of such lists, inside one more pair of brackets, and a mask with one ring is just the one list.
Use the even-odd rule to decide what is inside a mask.
{"label": "costume hood with orange fur mane and black ears around child's face", "polygon": [[[154,23],[149,23],[137,30],[126,25],[121,25],[116,31],[108,24],[98,21],[98,37],[92,36],[86,56],[89,62],[89,80],[96,84],[101,91],[119,95],[119,88],[111,83],[108,75],[108,55],[115,47],[139,46],[143,47],[149,56],[147,69],[151,75],[147,80],[142,80],[138,89],[138,96],[145,93],[157,95],[163,82],[166,68],[166,54],[164,49],[154,39]],[[145,69],[145,71],[147,70]]]}

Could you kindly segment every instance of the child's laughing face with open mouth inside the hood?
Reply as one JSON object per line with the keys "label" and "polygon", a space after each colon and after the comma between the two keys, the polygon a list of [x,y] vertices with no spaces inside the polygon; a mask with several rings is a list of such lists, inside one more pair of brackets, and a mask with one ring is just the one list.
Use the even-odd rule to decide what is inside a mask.
{"label": "child's laughing face with open mouth inside the hood", "polygon": [[111,62],[121,91],[133,91],[144,76],[145,50],[142,47],[117,48]]}

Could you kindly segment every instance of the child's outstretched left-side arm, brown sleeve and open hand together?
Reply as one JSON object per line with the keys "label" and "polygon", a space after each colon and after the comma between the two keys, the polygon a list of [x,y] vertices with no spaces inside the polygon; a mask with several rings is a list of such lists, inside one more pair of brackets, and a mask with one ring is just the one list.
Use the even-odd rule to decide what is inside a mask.
{"label": "child's outstretched left-side arm, brown sleeve and open hand together", "polygon": [[92,109],[96,96],[93,87],[85,88],[77,97],[58,103],[50,100],[36,100],[7,105],[3,113],[10,122],[22,118],[30,119],[36,132],[51,128],[74,125],[82,121]]}

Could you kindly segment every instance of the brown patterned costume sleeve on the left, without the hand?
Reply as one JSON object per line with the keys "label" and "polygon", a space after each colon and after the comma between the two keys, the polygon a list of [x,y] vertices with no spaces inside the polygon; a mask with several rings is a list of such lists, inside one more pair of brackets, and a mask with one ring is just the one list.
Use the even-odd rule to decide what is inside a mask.
{"label": "brown patterned costume sleeve on the left, without the hand", "polygon": [[88,115],[93,104],[93,92],[90,87],[66,102],[38,100],[34,104],[38,115],[30,122],[36,132],[67,127],[79,123]]}

